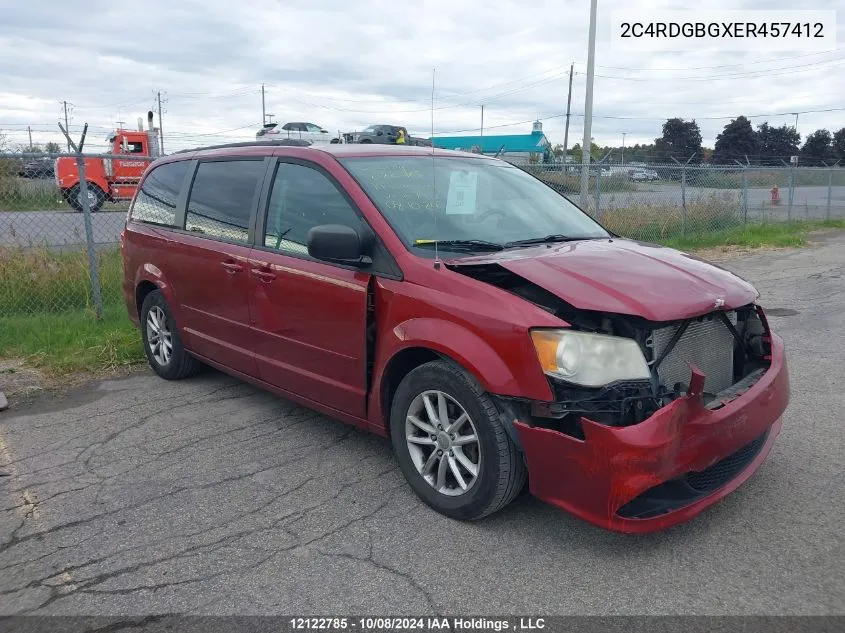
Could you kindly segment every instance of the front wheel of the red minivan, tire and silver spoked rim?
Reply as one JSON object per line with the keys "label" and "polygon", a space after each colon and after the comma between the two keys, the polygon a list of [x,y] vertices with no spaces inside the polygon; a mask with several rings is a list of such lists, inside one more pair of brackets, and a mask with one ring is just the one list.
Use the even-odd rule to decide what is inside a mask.
{"label": "front wheel of the red minivan, tire and silver spoked rim", "polygon": [[390,432],[411,488],[450,518],[488,516],[525,485],[525,462],[496,405],[452,362],[432,361],[405,376],[391,405]]}

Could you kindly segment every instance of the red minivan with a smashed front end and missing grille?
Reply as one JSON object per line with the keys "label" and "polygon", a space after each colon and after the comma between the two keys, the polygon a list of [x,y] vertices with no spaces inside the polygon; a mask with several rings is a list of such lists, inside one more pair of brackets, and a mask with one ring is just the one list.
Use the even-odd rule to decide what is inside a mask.
{"label": "red minivan with a smashed front end and missing grille", "polygon": [[607,529],[686,521],[757,470],[789,400],[751,285],[478,154],[177,153],[146,171],[122,248],[159,376],[210,365],[389,437],[456,519],[527,480]]}

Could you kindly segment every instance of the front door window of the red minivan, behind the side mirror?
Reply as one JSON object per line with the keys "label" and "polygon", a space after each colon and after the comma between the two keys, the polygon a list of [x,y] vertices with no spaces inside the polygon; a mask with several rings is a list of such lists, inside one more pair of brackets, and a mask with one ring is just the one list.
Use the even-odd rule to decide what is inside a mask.
{"label": "front door window of the red minivan, behind the side mirror", "polygon": [[280,163],[267,208],[264,245],[307,255],[308,231],[321,224],[342,224],[357,230],[361,219],[324,174],[304,165]]}

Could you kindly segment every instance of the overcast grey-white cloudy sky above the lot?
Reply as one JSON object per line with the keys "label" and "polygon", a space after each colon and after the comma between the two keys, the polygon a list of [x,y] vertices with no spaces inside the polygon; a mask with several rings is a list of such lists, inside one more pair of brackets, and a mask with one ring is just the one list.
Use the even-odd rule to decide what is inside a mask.
{"label": "overcast grey-white cloudy sky above the lot", "polygon": [[[124,6],[126,8],[124,8]],[[794,9],[795,2],[714,0],[709,9]],[[71,8],[72,7],[72,8]],[[130,8],[131,7],[131,8]],[[652,142],[667,117],[695,118],[705,145],[731,117],[845,107],[845,0],[838,50],[801,54],[619,53],[615,9],[687,9],[687,2],[599,0],[593,137]],[[58,140],[72,127],[102,146],[122,120],[135,127],[164,100],[165,149],[254,138],[260,86],[274,120],[330,130],[404,124],[436,133],[530,131],[543,119],[562,143],[569,65],[575,63],[569,145],[583,135],[587,0],[0,0],[0,130],[13,142]],[[791,115],[752,119],[793,124]],[[845,127],[845,110],[801,114],[802,140]],[[208,135],[208,136],[204,136]]]}

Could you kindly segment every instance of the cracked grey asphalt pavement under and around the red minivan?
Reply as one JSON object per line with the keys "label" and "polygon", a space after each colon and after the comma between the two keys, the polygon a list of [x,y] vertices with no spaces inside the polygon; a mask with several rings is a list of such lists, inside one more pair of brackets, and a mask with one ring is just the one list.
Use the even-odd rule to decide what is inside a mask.
{"label": "cracked grey asphalt pavement under and around the red minivan", "polygon": [[0,614],[843,614],[843,253],[724,263],[771,309],[792,400],[760,471],[689,524],[617,535],[527,493],[457,523],[383,439],[141,372],[0,414]]}

